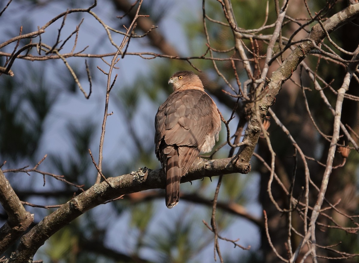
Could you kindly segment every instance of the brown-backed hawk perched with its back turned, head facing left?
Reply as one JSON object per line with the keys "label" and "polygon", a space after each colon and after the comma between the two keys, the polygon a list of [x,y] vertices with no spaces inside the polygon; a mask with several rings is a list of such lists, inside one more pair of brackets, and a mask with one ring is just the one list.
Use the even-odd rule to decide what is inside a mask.
{"label": "brown-backed hawk perched with its back turned, head facing left", "polygon": [[192,71],[174,73],[173,93],[155,118],[155,153],[166,174],[166,205],[180,198],[180,180],[200,152],[210,152],[218,141],[221,120],[214,101]]}

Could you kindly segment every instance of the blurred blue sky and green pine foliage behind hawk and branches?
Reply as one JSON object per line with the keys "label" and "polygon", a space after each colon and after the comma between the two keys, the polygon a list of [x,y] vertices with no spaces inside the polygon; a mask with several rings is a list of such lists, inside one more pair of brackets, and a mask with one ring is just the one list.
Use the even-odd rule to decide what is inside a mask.
{"label": "blurred blue sky and green pine foliage behind hawk and branches", "polygon": [[[120,3],[121,2],[121,3]],[[0,0],[0,8],[7,1]],[[1,29],[2,40],[18,34],[19,26],[23,25],[23,32],[31,32],[37,26],[45,24],[49,19],[68,8],[85,8],[92,4],[90,0],[82,1],[14,1],[9,9],[0,17],[0,23],[6,22]],[[128,4],[127,0],[99,1],[94,12],[115,28],[122,29],[122,24],[128,24],[129,19],[116,19],[123,15],[120,4]],[[267,1],[233,0],[232,5],[236,19],[244,29],[260,27],[265,20],[265,7]],[[312,13],[318,12],[326,1],[313,1],[310,3]],[[225,22],[223,11],[215,0],[205,2],[206,14],[213,19]],[[338,1],[335,13],[344,8],[346,1]],[[20,7],[22,9],[20,9]],[[41,19],[38,14],[45,14]],[[201,3],[193,1],[144,1],[142,14],[149,14],[158,30],[164,35],[178,54],[182,56],[199,56],[206,52],[206,36],[202,24]],[[293,1],[288,10],[289,15],[295,18],[306,17],[308,14],[303,1]],[[14,15],[15,14],[15,15]],[[108,53],[113,50],[107,36],[101,28],[96,27],[86,14],[77,13],[69,15],[66,26],[69,32],[85,17],[81,25],[79,46],[90,45],[89,53]],[[269,17],[267,24],[276,19],[275,6],[269,3]],[[27,22],[25,22],[27,21]],[[43,41],[54,43],[57,37],[56,24],[43,35]],[[288,24],[283,28],[283,35],[290,35],[298,26]],[[335,31],[331,37],[340,46],[346,47],[349,43],[355,45],[359,40],[359,31],[348,29]],[[227,50],[233,47],[232,32],[228,27],[207,21],[211,46]],[[140,29],[137,29],[140,33]],[[351,34],[345,32],[350,31]],[[270,33],[271,29],[265,31]],[[64,34],[66,35],[66,34]],[[298,34],[300,35],[300,34]],[[305,36],[306,33],[303,35]],[[302,36],[302,35],[300,35]],[[244,40],[248,44],[248,40]],[[93,44],[94,43],[94,44]],[[265,52],[265,44],[261,52]],[[260,46],[261,47],[261,46]],[[11,47],[4,48],[3,52],[12,52]],[[66,47],[71,50],[70,47]],[[78,49],[81,49],[79,47]],[[149,42],[147,38],[132,39],[129,52],[134,51],[159,52],[159,48]],[[354,50],[354,49],[353,49]],[[112,51],[111,51],[112,52]],[[227,56],[227,53],[219,56]],[[307,63],[312,67],[318,66],[318,74],[325,81],[335,80],[334,87],[340,87],[343,78],[343,69],[336,64],[320,62],[311,57]],[[84,87],[88,86],[84,64],[81,58],[69,59]],[[2,169],[12,169],[29,165],[33,167],[47,154],[46,160],[39,169],[54,174],[64,175],[66,180],[74,184],[84,185],[87,189],[95,182],[97,171],[88,154],[90,148],[95,160],[97,158],[99,134],[104,110],[106,94],[106,76],[96,69],[98,65],[106,69],[106,64],[99,59],[89,59],[90,70],[93,77],[93,94],[88,101],[76,87],[69,72],[61,61],[29,62],[21,59],[15,60],[13,70],[15,77],[0,76],[0,163],[6,160]],[[5,58],[0,57],[0,64],[5,64]],[[217,83],[209,88],[211,96],[215,99],[224,118],[229,118],[232,112],[233,99],[217,96],[220,89],[228,90],[223,80],[216,74],[210,60],[194,60],[196,67],[206,72],[208,82]],[[217,62],[219,70],[231,83],[235,83],[232,66],[229,62]],[[275,65],[274,65],[275,66]],[[115,70],[119,77],[111,92],[109,116],[105,137],[105,152],[103,174],[107,177],[118,176],[137,170],[137,167],[147,166],[151,169],[160,167],[154,155],[154,116],[158,106],[167,98],[172,89],[167,81],[177,70],[191,70],[191,66],[182,60],[153,59],[145,60],[126,56],[118,63]],[[246,80],[241,63],[236,64],[241,81]],[[298,68],[297,71],[300,69]],[[297,79],[295,79],[297,77]],[[303,82],[313,89],[313,84],[304,75]],[[298,75],[293,77],[298,81]],[[205,81],[204,81],[205,82]],[[297,82],[298,83],[298,82]],[[357,86],[357,85],[356,85]],[[358,87],[350,87],[350,93],[358,96]],[[314,89],[313,89],[314,90]],[[331,91],[325,91],[331,93]],[[318,99],[317,92],[306,91],[312,115],[322,131],[329,134],[331,131],[332,114]],[[334,95],[328,97],[335,99]],[[350,104],[348,107],[347,104]],[[358,131],[357,103],[345,101],[342,120]],[[296,83],[288,81],[272,107],[281,121],[290,130],[303,151],[312,157],[322,159],[326,157],[328,142],[318,139],[314,127],[309,125],[310,120],[306,113],[301,88]],[[236,129],[236,120],[231,122],[231,130]],[[272,146],[277,154],[276,171],[283,181],[290,181],[293,170],[293,147],[286,141],[280,128],[272,123],[269,128]],[[225,141],[225,129],[222,129],[219,143]],[[215,158],[227,157],[229,147],[223,147]],[[258,143],[258,154],[269,160],[269,152],[264,141]],[[328,198],[336,200],[337,195],[348,202],[339,204],[340,209],[348,213],[358,214],[358,155],[351,154],[347,165],[333,172]],[[311,163],[313,180],[321,174],[321,167]],[[261,211],[265,209],[269,215],[270,233],[273,243],[284,248],[286,242],[283,232],[286,216],[276,213],[275,208],[267,197],[266,183],[268,171],[264,169],[257,159],[252,160],[252,171],[248,175],[224,176],[220,190],[219,201],[236,203],[247,208],[253,217],[262,219]],[[343,176],[345,175],[345,176]],[[6,174],[13,188],[22,201],[34,204],[53,205],[68,201],[78,189],[73,186],[61,184],[53,178],[43,178],[37,174]],[[298,185],[295,195],[299,195],[303,185],[303,164],[298,164]],[[196,195],[206,200],[213,199],[216,178],[211,182],[208,178],[181,185],[184,195]],[[278,203],[285,202],[279,186],[274,184],[272,189]],[[34,223],[38,223],[43,216],[51,213],[52,209],[26,207],[35,214]],[[0,209],[0,218],[6,220],[5,212]],[[182,199],[180,204],[172,210],[164,206],[163,191],[150,190],[124,196],[123,199],[113,201],[106,205],[85,213],[73,221],[69,226],[53,235],[39,250],[36,259],[44,262],[214,262],[213,234],[205,227],[202,220],[210,221],[211,205],[205,205]],[[241,238],[244,247],[251,245],[249,252],[234,249],[233,244],[220,241],[225,262],[277,262],[266,240],[263,228],[250,220],[229,214],[218,209],[218,227],[224,237],[230,239]],[[344,219],[343,219],[344,220]],[[299,225],[302,220],[293,220]],[[295,239],[295,238],[293,238]],[[243,241],[242,241],[243,240]],[[326,242],[328,240],[328,242]],[[330,240],[330,242],[329,242]],[[358,253],[358,238],[343,238],[337,230],[323,233],[318,243],[333,244],[342,242],[341,247],[348,253]],[[293,240],[293,247],[297,243]],[[284,249],[279,253],[285,254]],[[7,255],[8,256],[8,255]],[[330,262],[323,260],[321,262]],[[353,261],[354,262],[354,261]],[[355,261],[357,262],[357,261]]]}

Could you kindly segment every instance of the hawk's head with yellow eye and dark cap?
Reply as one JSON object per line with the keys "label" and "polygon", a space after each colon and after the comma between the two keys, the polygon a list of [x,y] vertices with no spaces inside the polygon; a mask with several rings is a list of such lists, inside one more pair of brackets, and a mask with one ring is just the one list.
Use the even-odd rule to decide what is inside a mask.
{"label": "hawk's head with yellow eye and dark cap", "polygon": [[172,84],[173,91],[184,89],[200,89],[204,91],[201,79],[189,70],[178,71],[168,80],[168,84]]}

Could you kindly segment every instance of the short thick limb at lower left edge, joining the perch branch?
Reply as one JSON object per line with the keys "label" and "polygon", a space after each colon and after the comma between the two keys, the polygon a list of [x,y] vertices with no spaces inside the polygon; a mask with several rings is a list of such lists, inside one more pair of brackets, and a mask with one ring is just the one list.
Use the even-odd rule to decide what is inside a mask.
{"label": "short thick limb at lower left edge, joining the perch branch", "polygon": [[1,170],[0,203],[9,216],[8,221],[0,228],[0,254],[2,254],[9,245],[19,239],[34,219],[32,215],[25,210]]}

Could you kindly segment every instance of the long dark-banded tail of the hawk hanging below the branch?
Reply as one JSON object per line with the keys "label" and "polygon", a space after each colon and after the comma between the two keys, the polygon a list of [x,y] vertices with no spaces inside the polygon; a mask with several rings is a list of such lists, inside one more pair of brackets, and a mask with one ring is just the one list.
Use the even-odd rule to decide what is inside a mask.
{"label": "long dark-banded tail of the hawk hanging below the branch", "polygon": [[172,208],[180,199],[181,168],[178,164],[178,152],[172,147],[167,155],[166,165],[166,206]]}

